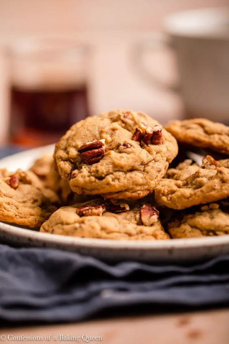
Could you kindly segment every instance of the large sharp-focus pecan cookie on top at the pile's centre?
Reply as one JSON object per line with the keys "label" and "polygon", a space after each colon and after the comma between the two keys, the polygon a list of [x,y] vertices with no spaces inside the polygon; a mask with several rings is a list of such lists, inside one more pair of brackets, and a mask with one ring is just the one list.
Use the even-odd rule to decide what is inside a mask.
{"label": "large sharp-focus pecan cookie on top at the pile's centre", "polygon": [[177,152],[176,140],[157,121],[117,110],[73,125],[54,158],[73,192],[141,198],[154,190]]}

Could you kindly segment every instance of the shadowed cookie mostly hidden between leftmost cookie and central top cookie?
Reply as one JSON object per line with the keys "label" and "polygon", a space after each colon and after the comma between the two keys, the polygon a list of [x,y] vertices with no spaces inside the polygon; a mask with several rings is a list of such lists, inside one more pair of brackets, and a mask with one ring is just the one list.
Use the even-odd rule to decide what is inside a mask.
{"label": "shadowed cookie mostly hidden between leftmost cookie and central top cookie", "polygon": [[68,181],[62,179],[56,172],[53,155],[44,155],[36,159],[30,170],[43,181],[46,187],[49,187],[49,189],[55,191],[59,195],[62,205],[72,205],[78,202],[87,201],[87,196],[73,193]]}

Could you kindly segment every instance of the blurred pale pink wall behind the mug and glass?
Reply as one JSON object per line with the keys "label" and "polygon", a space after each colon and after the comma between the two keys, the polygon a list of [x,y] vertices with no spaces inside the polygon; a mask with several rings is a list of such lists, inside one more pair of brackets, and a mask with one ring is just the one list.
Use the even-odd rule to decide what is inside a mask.
{"label": "blurred pale pink wall behind the mug and glass", "polygon": [[[182,116],[175,93],[149,84],[134,64],[137,42],[152,32],[164,31],[164,18],[192,8],[227,6],[228,0],[0,0],[1,42],[22,36],[71,35],[91,45],[91,113],[112,108],[143,110],[162,122]],[[172,54],[162,50],[146,54],[149,70],[168,82],[176,78]],[[1,121],[4,103],[5,64],[1,61]],[[156,116],[156,117],[157,117]]]}

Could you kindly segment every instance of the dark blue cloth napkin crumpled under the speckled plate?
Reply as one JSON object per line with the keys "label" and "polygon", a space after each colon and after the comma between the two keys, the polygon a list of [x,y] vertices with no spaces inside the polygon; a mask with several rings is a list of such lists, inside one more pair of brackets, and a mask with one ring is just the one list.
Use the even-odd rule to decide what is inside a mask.
{"label": "dark blue cloth napkin crumpled under the speckled plate", "polygon": [[[0,157],[14,148],[0,150]],[[0,324],[72,322],[127,307],[147,312],[168,307],[229,305],[229,256],[195,266],[138,262],[109,265],[47,248],[0,245]]]}

